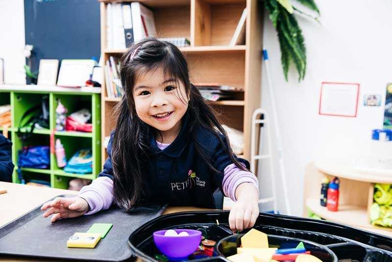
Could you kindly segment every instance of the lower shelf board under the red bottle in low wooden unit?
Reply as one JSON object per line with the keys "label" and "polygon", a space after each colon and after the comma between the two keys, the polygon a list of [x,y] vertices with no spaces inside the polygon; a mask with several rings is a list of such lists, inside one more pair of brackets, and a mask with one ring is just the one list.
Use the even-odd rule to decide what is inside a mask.
{"label": "lower shelf board under the red bottle in low wooden unit", "polygon": [[[354,205],[339,205],[339,211],[329,211],[326,207],[320,205],[319,199],[308,198],[306,206],[318,216],[340,224],[354,227],[386,230],[392,232],[392,228],[373,226],[369,222],[368,211],[364,207]],[[347,221],[350,221],[347,223]],[[392,236],[392,234],[391,234]]]}

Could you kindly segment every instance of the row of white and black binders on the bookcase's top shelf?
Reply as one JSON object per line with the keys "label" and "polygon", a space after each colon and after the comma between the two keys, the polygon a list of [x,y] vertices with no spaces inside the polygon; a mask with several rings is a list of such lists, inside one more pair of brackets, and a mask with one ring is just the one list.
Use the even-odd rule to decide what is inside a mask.
{"label": "row of white and black binders on the bookcase's top shelf", "polygon": [[154,15],[140,2],[106,5],[106,48],[125,49],[133,42],[155,36]]}

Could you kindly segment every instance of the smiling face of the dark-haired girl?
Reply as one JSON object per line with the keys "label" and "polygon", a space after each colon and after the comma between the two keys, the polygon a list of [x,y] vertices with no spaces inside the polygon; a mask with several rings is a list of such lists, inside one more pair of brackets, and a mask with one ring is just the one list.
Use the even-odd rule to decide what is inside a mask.
{"label": "smiling face of the dark-haired girl", "polygon": [[162,68],[140,74],[133,87],[139,118],[162,134],[163,143],[172,143],[181,130],[181,118],[189,98],[181,81],[165,76]]}

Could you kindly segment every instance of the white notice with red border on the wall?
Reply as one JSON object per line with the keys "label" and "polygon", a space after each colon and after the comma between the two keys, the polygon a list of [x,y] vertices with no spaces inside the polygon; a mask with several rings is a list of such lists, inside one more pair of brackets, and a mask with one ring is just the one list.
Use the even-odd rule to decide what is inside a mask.
{"label": "white notice with red border on the wall", "polygon": [[319,114],[356,117],[358,100],[359,84],[322,82]]}

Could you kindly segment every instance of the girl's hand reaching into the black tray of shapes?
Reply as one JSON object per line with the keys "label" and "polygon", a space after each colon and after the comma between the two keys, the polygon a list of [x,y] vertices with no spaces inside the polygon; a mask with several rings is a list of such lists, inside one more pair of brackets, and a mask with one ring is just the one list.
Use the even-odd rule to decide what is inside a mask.
{"label": "girl's hand reaching into the black tray of shapes", "polygon": [[259,216],[259,192],[250,183],[242,183],[236,189],[237,202],[229,214],[229,226],[233,232],[254,226]]}

